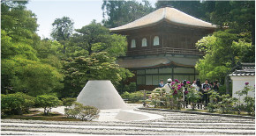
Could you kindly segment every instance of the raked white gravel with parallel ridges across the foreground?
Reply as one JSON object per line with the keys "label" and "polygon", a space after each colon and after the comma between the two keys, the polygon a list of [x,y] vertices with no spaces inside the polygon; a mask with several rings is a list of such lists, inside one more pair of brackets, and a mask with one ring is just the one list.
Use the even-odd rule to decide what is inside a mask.
{"label": "raked white gravel with parallel ridges across the foreground", "polygon": [[[144,111],[144,110],[138,110]],[[255,120],[171,111],[146,111],[164,118],[129,122],[74,122],[2,119],[1,134],[11,135],[254,135]]]}

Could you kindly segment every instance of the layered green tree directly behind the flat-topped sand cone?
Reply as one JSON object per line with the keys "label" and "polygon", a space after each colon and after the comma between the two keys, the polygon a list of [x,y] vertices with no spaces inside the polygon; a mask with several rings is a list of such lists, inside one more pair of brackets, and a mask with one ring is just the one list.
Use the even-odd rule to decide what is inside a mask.
{"label": "layered green tree directly behind the flat-topped sand cone", "polygon": [[68,59],[64,64],[63,97],[77,97],[88,80],[110,80],[117,85],[131,77],[132,73],[120,68],[116,59],[106,52],[94,53],[88,57],[79,56]]}

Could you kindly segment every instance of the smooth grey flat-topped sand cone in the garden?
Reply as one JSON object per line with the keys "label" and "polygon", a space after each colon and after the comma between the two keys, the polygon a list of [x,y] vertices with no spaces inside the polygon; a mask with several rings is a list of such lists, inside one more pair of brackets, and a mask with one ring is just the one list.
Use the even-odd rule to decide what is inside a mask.
{"label": "smooth grey flat-topped sand cone in the garden", "polygon": [[117,89],[109,80],[88,81],[79,93],[77,102],[100,110],[127,108]]}

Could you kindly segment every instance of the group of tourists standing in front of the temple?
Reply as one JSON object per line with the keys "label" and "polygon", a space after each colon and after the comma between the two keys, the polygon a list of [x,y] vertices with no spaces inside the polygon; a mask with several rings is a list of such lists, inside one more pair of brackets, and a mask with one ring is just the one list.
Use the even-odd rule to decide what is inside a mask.
{"label": "group of tourists standing in front of the temple", "polygon": [[[171,90],[171,82],[172,82],[172,80],[170,78],[167,80],[166,84],[163,83],[163,80],[160,80],[159,88],[164,88],[166,93],[169,93],[170,90]],[[186,80],[183,81],[184,92],[186,91],[186,88],[185,88],[186,82],[188,82],[188,81],[186,81]],[[201,94],[202,94],[201,99],[199,101],[200,104],[198,104],[198,108],[202,109],[202,104],[204,104],[204,106],[206,107],[208,102],[209,102],[209,94],[208,94],[208,92],[210,90],[212,90],[212,89],[215,90],[216,92],[218,92],[220,84],[219,84],[219,82],[217,80],[215,82],[209,82],[206,79],[205,82],[201,83],[200,79],[197,79],[196,81],[192,82],[191,86],[193,88],[195,88],[196,90],[200,91]],[[184,101],[186,101],[185,93],[184,93]],[[186,107],[187,107],[187,104],[186,104]]]}

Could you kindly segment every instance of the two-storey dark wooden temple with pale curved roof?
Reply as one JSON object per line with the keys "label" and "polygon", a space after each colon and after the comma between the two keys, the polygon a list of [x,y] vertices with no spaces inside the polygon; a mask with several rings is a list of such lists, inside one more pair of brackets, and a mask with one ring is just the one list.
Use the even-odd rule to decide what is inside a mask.
{"label": "two-storey dark wooden temple with pale curved roof", "polygon": [[215,29],[216,25],[163,7],[110,31],[127,37],[127,54],[117,63],[135,74],[130,82],[138,89],[154,89],[160,79],[197,79],[194,66],[203,53],[195,43]]}

